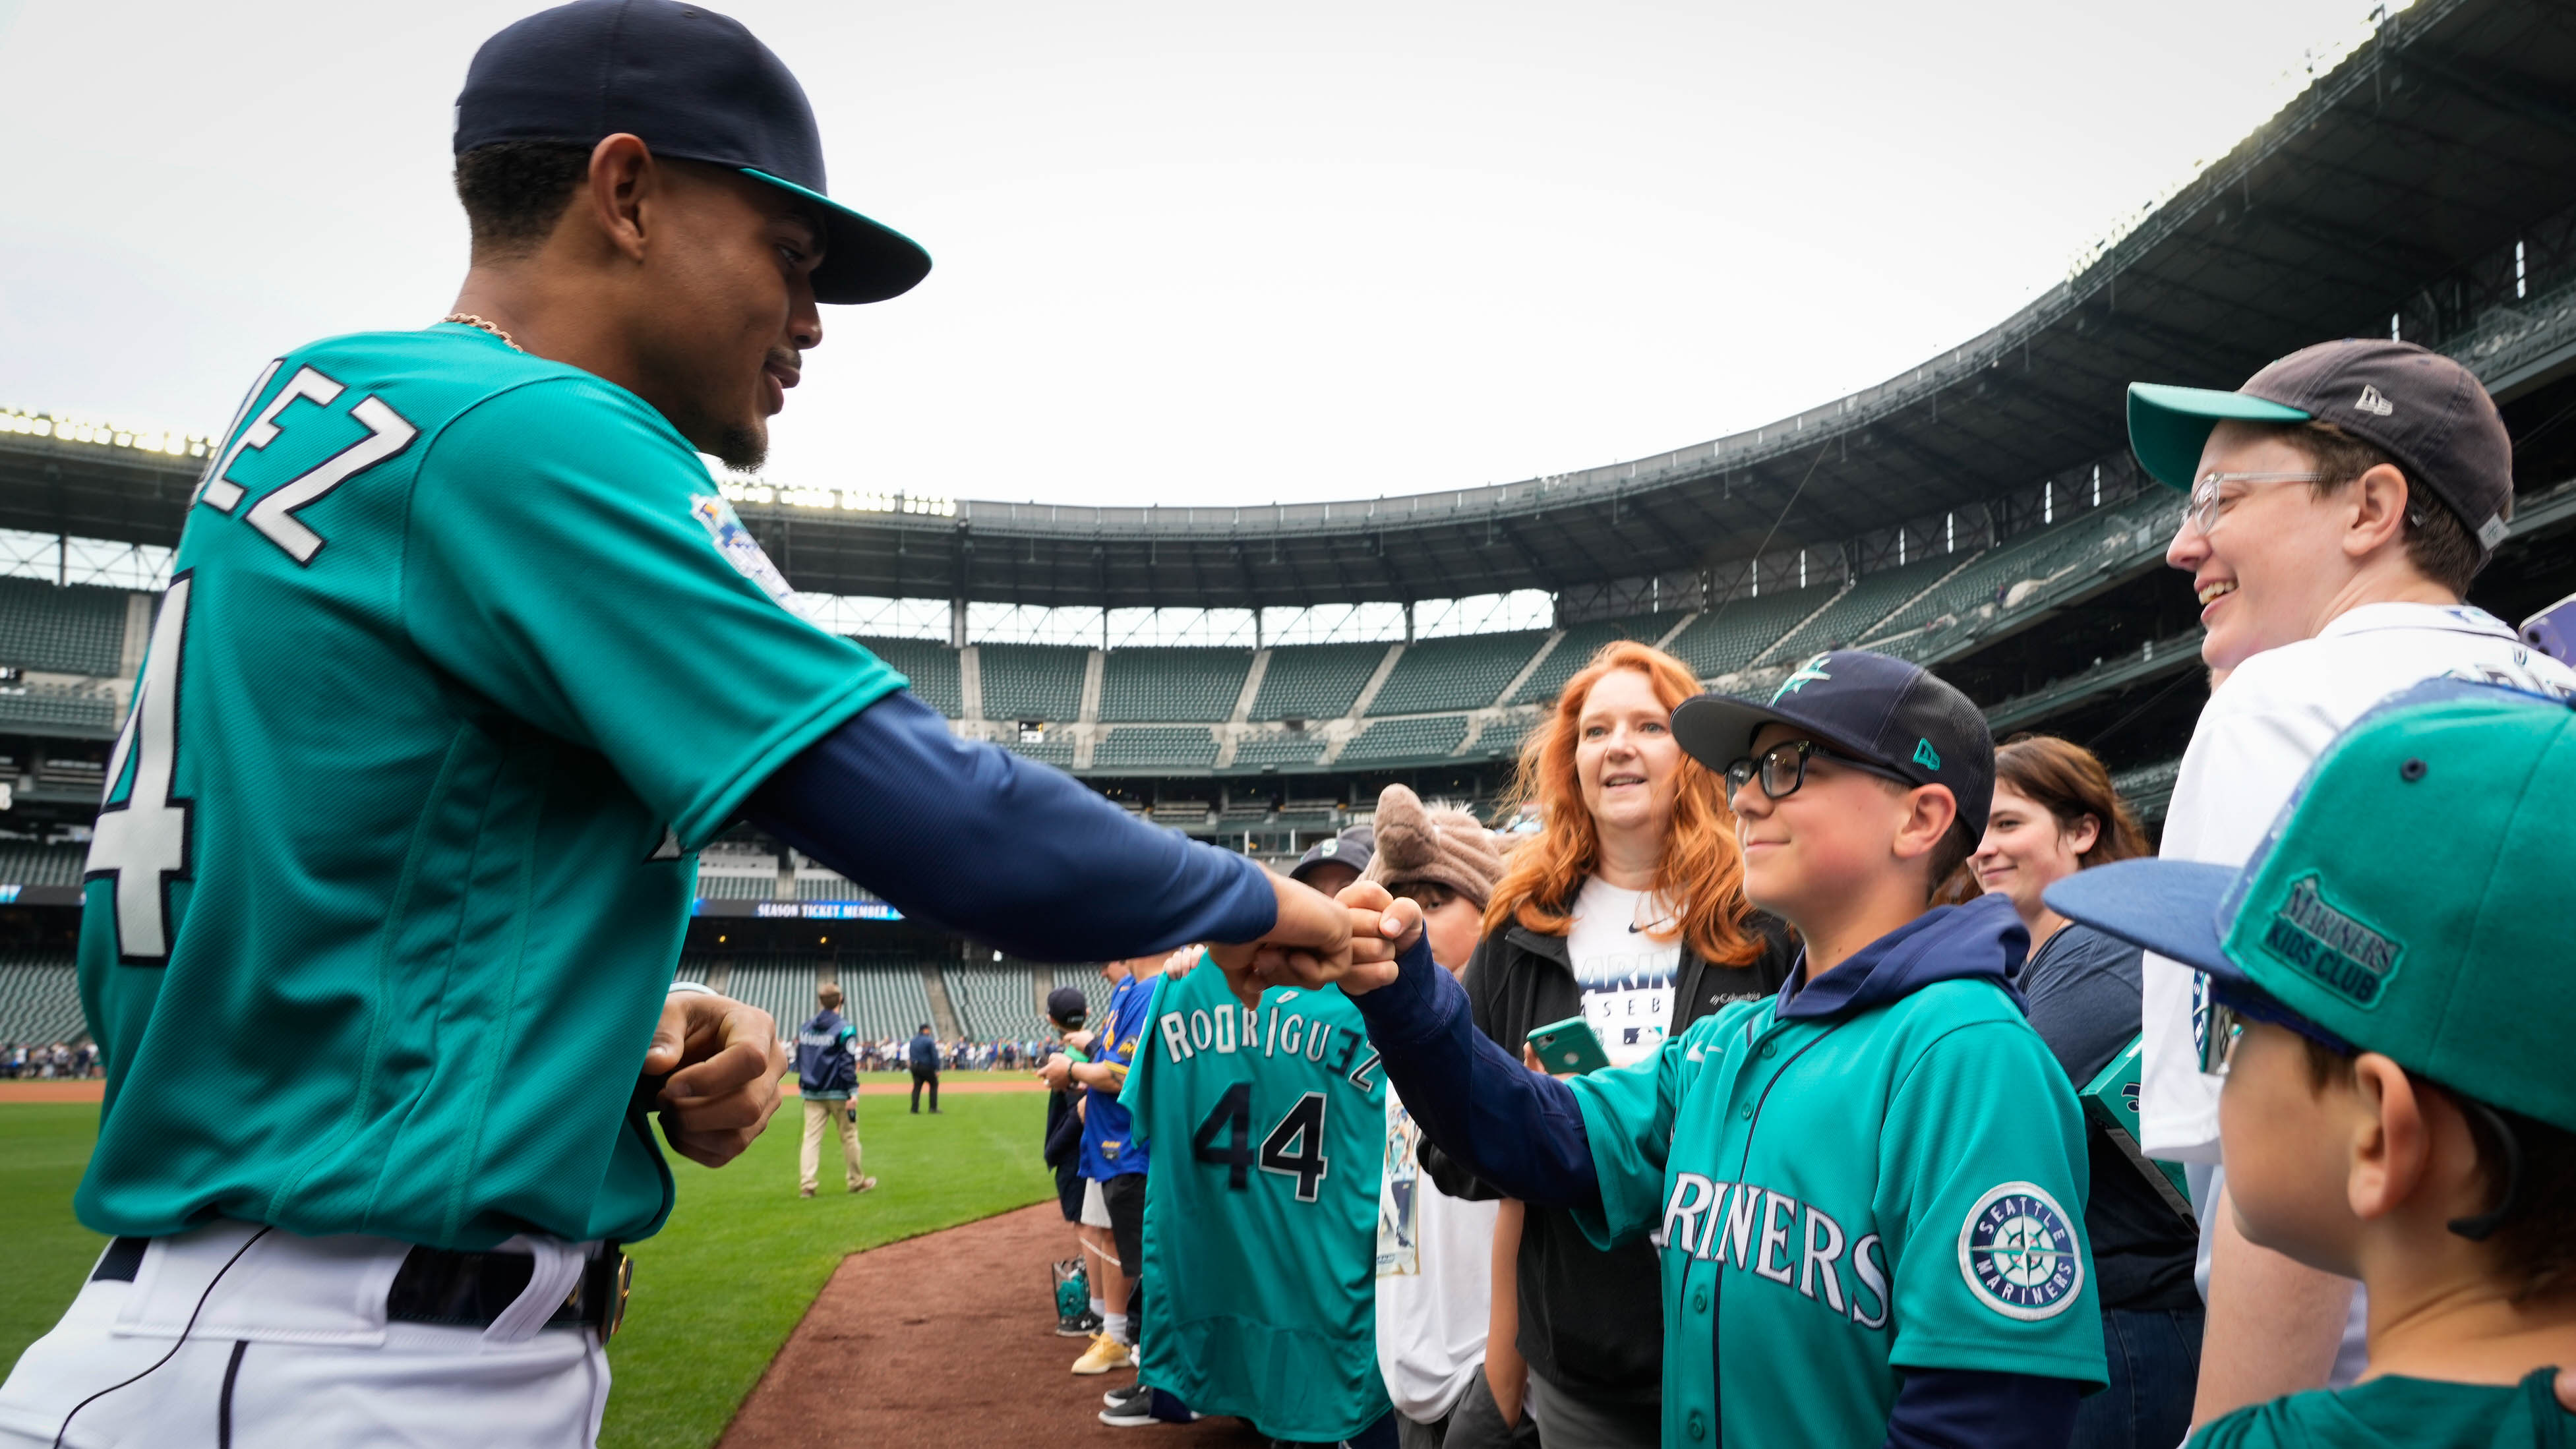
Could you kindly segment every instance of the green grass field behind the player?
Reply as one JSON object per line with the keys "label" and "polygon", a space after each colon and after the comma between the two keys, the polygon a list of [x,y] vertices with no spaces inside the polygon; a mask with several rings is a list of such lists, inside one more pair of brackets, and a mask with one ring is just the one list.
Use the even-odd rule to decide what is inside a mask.
{"label": "green grass field behind the player", "polygon": [[[969,1073],[981,1076],[981,1073]],[[680,1204],[631,1248],[636,1289],[608,1346],[611,1449],[703,1449],[732,1421],[760,1369],[848,1253],[1043,1202],[1043,1094],[951,1094],[938,1117],[866,1096],[858,1138],[881,1186],[850,1197],[840,1148],[824,1143],[822,1192],[796,1197],[801,1107],[788,1102],[724,1171],[672,1158]],[[0,1104],[0,1364],[62,1315],[103,1241],[72,1220],[98,1107]],[[1036,1295],[1036,1279],[1030,1279]]]}

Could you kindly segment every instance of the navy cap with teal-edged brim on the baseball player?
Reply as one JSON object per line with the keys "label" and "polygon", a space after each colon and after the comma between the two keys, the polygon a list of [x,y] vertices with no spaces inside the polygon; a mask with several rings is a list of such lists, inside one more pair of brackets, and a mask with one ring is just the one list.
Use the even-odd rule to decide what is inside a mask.
{"label": "navy cap with teal-edged brim on the baseball player", "polygon": [[592,147],[641,136],[657,157],[739,170],[824,214],[814,301],[886,301],[930,275],[912,237],[824,196],[822,131],[788,67],[729,15],[677,0],[574,0],[474,51],[456,154],[495,142]]}

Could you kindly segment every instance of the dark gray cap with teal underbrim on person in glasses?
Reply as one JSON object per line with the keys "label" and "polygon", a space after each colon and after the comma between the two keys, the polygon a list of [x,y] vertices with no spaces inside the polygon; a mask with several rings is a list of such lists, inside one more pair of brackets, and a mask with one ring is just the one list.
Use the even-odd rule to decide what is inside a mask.
{"label": "dark gray cap with teal underbrim on person in glasses", "polygon": [[2128,383],[2128,445],[2164,486],[2192,492],[2221,422],[2331,422],[2398,461],[2468,525],[2481,553],[2504,540],[2514,440],[2486,386],[2442,353],[2344,337],[2269,363],[2236,391]]}

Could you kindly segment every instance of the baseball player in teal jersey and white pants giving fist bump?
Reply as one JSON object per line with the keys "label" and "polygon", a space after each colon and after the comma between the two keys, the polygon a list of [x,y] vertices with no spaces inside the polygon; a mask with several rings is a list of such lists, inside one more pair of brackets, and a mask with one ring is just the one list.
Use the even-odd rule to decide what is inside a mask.
{"label": "baseball player in teal jersey and white pants giving fist bump", "polygon": [[520,21],[456,149],[459,317],[260,368],[191,499],[88,862],[116,1241],[0,1444],[587,1444],[647,1114],[714,1166],[778,1104],[768,1014],[672,986],[734,818],[1023,955],[1347,942],[783,607],[696,453],[930,263],[750,31]]}

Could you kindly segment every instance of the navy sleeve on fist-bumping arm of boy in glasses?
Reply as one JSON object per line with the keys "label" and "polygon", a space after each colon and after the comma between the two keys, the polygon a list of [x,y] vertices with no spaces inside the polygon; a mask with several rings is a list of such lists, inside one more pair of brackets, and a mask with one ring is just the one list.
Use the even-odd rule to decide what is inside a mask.
{"label": "navy sleeve on fist-bumping arm of boy in glasses", "polygon": [[1540,1207],[1600,1202],[1574,1091],[1476,1029],[1466,988],[1432,963],[1425,939],[1396,968],[1394,983],[1350,1001],[1422,1135],[1507,1197]]}

